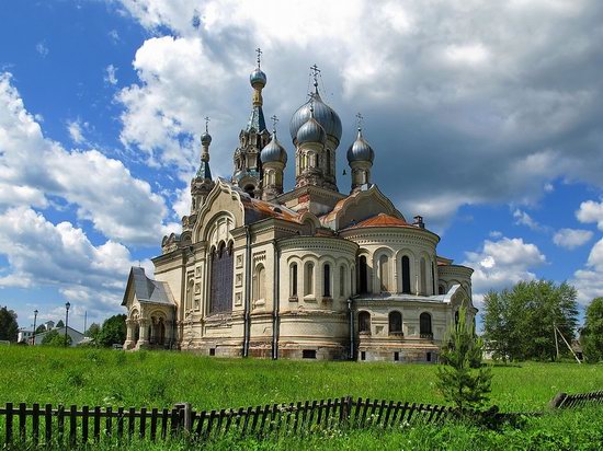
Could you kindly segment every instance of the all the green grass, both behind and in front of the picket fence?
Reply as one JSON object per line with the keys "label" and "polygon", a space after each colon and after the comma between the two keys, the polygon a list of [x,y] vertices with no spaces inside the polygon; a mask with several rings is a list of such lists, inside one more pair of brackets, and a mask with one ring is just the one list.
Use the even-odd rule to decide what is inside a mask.
{"label": "all the green grass, both behind and in front of the picket fence", "polygon": [[[428,365],[217,359],[185,352],[2,347],[0,404],[170,407],[178,402],[190,402],[195,409],[211,409],[346,394],[443,404],[434,386],[435,369]],[[543,410],[558,392],[603,390],[601,365],[526,362],[496,366],[492,372],[490,404],[497,404],[502,410]],[[217,449],[436,449],[439,443],[447,443],[441,449],[600,449],[603,447],[602,410],[548,415],[528,420],[521,430],[503,433],[468,425],[425,425],[386,433],[326,432],[327,436],[318,433],[303,442],[295,438],[262,442],[251,439],[252,443],[225,439],[213,444]],[[138,443],[132,449],[166,446],[153,448]],[[185,449],[186,444],[174,442],[169,447]]]}

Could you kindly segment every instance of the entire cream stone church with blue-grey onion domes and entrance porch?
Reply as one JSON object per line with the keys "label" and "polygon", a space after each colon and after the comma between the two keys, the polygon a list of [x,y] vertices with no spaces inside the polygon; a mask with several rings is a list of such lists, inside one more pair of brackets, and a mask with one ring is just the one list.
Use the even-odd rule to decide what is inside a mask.
{"label": "entire cream stone church with blue-grey onion domes and entrance porch", "polygon": [[287,152],[275,127],[266,129],[259,59],[230,180],[212,177],[206,126],[182,232],[163,238],[155,279],[130,270],[125,349],[436,361],[459,308],[475,317],[473,269],[437,255],[440,238],[423,219],[407,220],[379,190],[360,126],[346,153],[349,194],[339,192],[342,125],[316,73],[289,125],[292,190],[284,192]]}

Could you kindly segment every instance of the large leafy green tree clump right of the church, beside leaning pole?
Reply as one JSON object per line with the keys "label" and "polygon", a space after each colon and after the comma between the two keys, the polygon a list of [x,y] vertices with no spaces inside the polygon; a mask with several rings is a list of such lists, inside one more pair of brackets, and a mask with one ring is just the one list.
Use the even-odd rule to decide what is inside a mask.
{"label": "large leafy green tree clump right of the church, beside leaning pole", "polygon": [[572,286],[566,282],[557,286],[550,280],[520,281],[511,290],[489,292],[485,298],[483,336],[492,357],[555,360],[554,327],[568,342],[574,336],[576,298]]}

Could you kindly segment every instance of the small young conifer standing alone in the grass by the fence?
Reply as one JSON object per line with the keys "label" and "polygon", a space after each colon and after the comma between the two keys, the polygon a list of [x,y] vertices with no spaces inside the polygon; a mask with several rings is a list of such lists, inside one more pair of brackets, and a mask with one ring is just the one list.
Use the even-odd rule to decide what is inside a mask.
{"label": "small young conifer standing alone in the grass by the fence", "polygon": [[492,373],[481,365],[483,342],[467,322],[467,310],[458,312],[458,322],[450,333],[440,355],[437,389],[458,408],[480,407],[488,400]]}

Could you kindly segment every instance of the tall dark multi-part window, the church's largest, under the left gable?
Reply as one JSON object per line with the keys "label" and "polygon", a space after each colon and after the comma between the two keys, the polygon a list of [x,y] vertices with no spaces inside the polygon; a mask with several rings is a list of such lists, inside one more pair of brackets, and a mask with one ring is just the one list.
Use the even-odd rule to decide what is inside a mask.
{"label": "tall dark multi-part window, the church's largest, under the left gable", "polygon": [[212,253],[209,314],[232,310],[232,244],[221,242]]}

